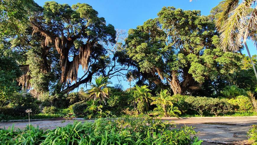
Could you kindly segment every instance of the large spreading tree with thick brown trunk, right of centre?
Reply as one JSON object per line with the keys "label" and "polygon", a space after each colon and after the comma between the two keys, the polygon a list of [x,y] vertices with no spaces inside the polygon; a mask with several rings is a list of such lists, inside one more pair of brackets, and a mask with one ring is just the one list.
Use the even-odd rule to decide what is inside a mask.
{"label": "large spreading tree with thick brown trunk, right of centre", "polygon": [[214,23],[197,10],[163,7],[157,18],[128,31],[126,48],[141,72],[158,74],[174,94],[192,94],[240,65],[238,54],[219,48]]}

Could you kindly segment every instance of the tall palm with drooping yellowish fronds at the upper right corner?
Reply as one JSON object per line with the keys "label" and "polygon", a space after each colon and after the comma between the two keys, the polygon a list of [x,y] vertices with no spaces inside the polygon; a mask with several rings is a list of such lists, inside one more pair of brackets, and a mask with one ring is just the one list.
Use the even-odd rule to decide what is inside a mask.
{"label": "tall palm with drooping yellowish fronds at the upper right corner", "polygon": [[257,79],[256,69],[246,44],[246,39],[251,39],[257,47],[257,1],[243,0],[241,3],[239,2],[239,0],[226,0],[222,4],[223,11],[216,21],[217,30],[221,33],[220,45],[224,51],[227,48],[237,51],[242,46],[243,39]]}

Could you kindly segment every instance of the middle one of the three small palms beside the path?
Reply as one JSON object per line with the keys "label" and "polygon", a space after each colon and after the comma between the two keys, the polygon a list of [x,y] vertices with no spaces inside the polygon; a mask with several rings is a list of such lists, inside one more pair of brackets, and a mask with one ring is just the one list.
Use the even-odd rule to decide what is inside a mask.
{"label": "middle one of the three small palms beside the path", "polygon": [[149,90],[148,86],[146,85],[141,87],[139,87],[138,85],[135,86],[131,105],[133,105],[135,109],[137,108],[140,113],[144,111],[144,108],[148,110],[149,100],[152,97],[150,91],[151,90]]}

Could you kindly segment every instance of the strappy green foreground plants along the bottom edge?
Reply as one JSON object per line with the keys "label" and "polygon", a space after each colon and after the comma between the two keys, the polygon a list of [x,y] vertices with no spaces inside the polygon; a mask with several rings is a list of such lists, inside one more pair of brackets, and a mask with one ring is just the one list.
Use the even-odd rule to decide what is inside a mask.
{"label": "strappy green foreground plants along the bottom edge", "polygon": [[[94,123],[74,122],[65,127],[46,130],[28,127],[25,130],[0,130],[1,144],[160,144],[189,145],[198,142],[191,138],[192,127],[170,129],[174,125],[152,118],[97,119]],[[84,136],[87,134],[87,136]],[[71,137],[71,138],[70,138]],[[201,141],[200,141],[201,142]]]}

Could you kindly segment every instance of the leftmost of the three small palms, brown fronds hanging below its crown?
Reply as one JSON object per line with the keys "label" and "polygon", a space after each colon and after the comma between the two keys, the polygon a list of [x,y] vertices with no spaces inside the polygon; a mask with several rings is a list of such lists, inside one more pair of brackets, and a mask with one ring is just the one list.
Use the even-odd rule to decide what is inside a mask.
{"label": "leftmost of the three small palms, brown fronds hanging below its crown", "polygon": [[89,98],[97,100],[99,99],[100,103],[105,103],[105,99],[108,98],[109,89],[107,85],[110,84],[108,77],[100,76],[95,78],[95,84],[91,83],[91,89],[88,91]]}

